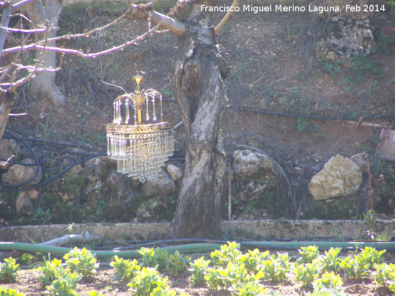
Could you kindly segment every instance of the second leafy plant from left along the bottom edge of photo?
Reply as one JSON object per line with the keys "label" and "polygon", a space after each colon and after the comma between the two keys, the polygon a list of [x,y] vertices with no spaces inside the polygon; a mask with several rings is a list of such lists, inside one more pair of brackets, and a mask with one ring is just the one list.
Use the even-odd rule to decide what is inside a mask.
{"label": "second leafy plant from left along the bottom edge of photo", "polygon": [[46,286],[45,294],[51,296],[78,296],[76,293],[77,282],[82,278],[77,272],[69,272],[67,269],[55,269],[55,280]]}

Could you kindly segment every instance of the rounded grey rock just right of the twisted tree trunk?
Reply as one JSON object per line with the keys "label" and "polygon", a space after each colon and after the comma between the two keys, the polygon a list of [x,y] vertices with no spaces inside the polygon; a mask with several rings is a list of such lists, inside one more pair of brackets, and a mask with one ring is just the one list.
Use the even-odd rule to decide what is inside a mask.
{"label": "rounded grey rock just right of the twisted tree trunk", "polygon": [[278,175],[277,169],[269,157],[251,150],[235,151],[233,171],[237,179],[257,179],[265,181],[267,184],[275,181]]}

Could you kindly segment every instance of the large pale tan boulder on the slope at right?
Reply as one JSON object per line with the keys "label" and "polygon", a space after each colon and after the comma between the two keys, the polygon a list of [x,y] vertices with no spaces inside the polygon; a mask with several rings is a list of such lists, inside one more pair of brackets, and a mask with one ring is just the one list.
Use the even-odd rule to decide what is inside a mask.
{"label": "large pale tan boulder on the slope at right", "polygon": [[328,160],[309,183],[315,200],[356,193],[362,183],[361,169],[349,158],[337,155]]}

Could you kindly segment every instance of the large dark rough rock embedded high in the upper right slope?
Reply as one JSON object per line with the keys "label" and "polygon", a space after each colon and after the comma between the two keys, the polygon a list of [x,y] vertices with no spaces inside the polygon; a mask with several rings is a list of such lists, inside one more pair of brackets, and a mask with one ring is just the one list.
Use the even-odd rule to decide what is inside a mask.
{"label": "large dark rough rock embedded high in the upper right slope", "polygon": [[352,62],[358,55],[368,55],[373,47],[369,20],[334,17],[317,40],[314,46],[316,58],[335,62]]}

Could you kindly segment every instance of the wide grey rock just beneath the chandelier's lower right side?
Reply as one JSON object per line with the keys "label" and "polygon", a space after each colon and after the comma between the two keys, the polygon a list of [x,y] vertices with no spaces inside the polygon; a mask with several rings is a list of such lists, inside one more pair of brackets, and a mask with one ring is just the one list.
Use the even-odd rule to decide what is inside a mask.
{"label": "wide grey rock just beneath the chandelier's lower right side", "polygon": [[145,197],[165,196],[173,194],[175,190],[176,185],[163,170],[143,183],[143,195]]}

